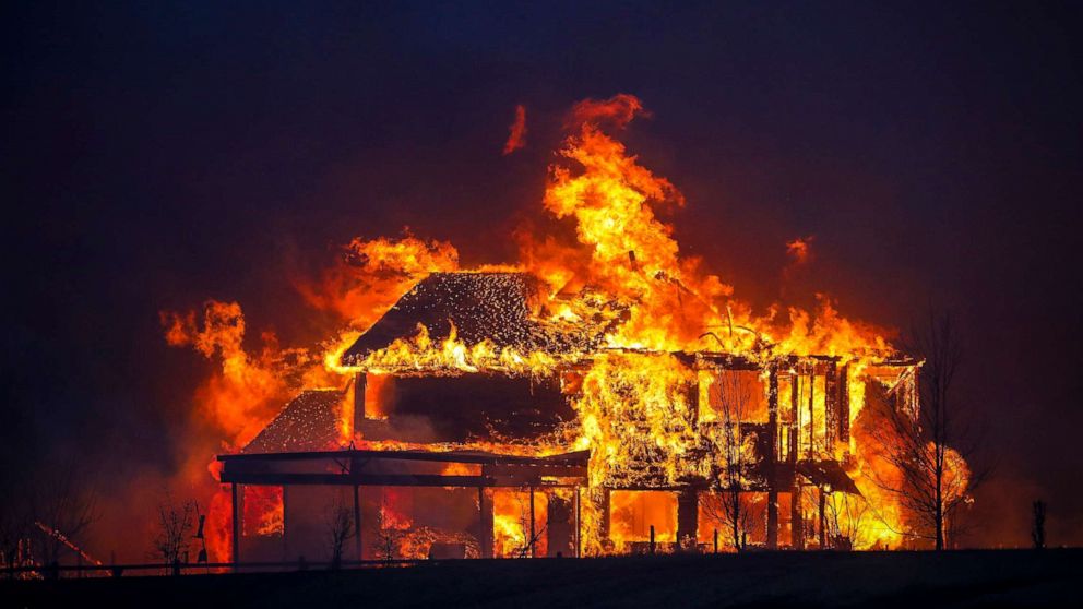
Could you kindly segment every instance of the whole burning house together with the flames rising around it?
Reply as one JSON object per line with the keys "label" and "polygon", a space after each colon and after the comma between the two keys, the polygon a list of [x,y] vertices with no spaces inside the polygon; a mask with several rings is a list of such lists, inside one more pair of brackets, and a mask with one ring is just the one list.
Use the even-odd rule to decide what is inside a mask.
{"label": "whole burning house together with the flames rising around it", "polygon": [[[871,482],[897,473],[869,439],[882,407],[915,417],[920,362],[828,299],[757,314],[682,256],[655,214],[682,195],[610,134],[642,114],[629,95],[570,114],[544,204],[575,242],[465,271],[445,243],[350,243],[304,284],[346,322],[322,358],[248,356],[235,304],[202,329],[164,317],[170,344],[222,358],[202,397],[242,419],[219,457],[221,552],[317,556],[332,503],[359,523],[355,559],[694,551],[718,532],[729,550],[905,544],[913,515]],[[270,423],[246,403],[289,390]]]}

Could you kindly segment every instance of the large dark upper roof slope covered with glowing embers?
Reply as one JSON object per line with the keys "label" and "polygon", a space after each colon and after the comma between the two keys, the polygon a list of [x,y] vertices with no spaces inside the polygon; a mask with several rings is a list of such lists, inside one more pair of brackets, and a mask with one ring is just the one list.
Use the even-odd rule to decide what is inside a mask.
{"label": "large dark upper roof slope covered with glowing embers", "polygon": [[497,348],[564,353],[588,347],[597,337],[556,330],[535,318],[540,285],[527,273],[433,273],[414,286],[342,357],[357,365],[424,325],[433,341],[451,333],[466,345],[491,341]]}

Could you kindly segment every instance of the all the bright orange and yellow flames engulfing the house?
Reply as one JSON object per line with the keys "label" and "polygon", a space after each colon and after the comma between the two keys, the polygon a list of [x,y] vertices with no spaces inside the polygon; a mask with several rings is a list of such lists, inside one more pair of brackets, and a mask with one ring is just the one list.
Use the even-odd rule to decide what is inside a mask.
{"label": "all the bright orange and yellow flames engulfing the house", "polygon": [[[295,280],[312,308],[333,313],[341,323],[335,338],[322,346],[283,349],[273,335],[265,334],[261,351],[246,351],[243,315],[236,302],[209,302],[201,326],[194,312],[163,313],[170,345],[192,346],[221,363],[221,370],[197,392],[198,411],[224,432],[228,447],[237,449],[266,423],[291,391],[341,387],[346,377],[360,371],[368,373],[372,393],[379,393],[381,379],[388,375],[559,375],[576,418],[552,438],[535,439],[531,444],[372,441],[356,433],[353,411],[344,407],[342,441],[371,449],[476,449],[524,455],[590,450],[590,491],[582,504],[583,549],[597,554],[627,551],[629,542],[642,540],[635,514],[657,511],[654,499],[618,495],[610,509],[609,533],[615,544],[607,545],[600,489],[671,489],[689,480],[712,479],[733,459],[752,452],[745,444],[736,452],[718,450],[728,423],[712,404],[719,399],[716,379],[723,367],[703,358],[704,354],[739,357],[760,370],[753,383],[759,397],[751,416],[766,416],[767,373],[776,371],[779,429],[796,433],[794,450],[802,459],[844,463],[864,501],[874,507],[879,524],[869,520],[846,532],[855,547],[897,547],[902,541],[898,532],[908,516],[897,499],[869,482],[868,473],[882,465],[872,458],[867,438],[855,425],[866,403],[867,383],[896,382],[870,374],[876,362],[895,355],[890,333],[845,318],[825,295],[818,295],[813,310],[776,304],[757,311],[739,300],[722,277],[706,272],[700,259],[683,255],[673,226],[662,218],[686,204],[683,195],[612,135],[645,115],[642,103],[627,94],[576,104],[567,117],[567,138],[549,168],[543,198],[545,210],[567,230],[520,230],[520,264],[471,270],[525,271],[538,277],[547,294],[536,321],[546,327],[600,332],[597,348],[528,351],[499,347],[487,338],[466,344],[454,324],[442,339],[419,324],[410,336],[344,366],[346,349],[404,292],[430,273],[460,271],[457,251],[450,243],[424,241],[408,232],[400,239],[355,239],[344,248],[338,263],[317,280]],[[519,106],[505,154],[521,145],[524,134],[525,109]],[[786,244],[793,264],[810,263],[811,239]],[[855,429],[848,442],[832,442],[816,423],[826,420],[829,408],[826,374],[817,368],[825,366],[823,357],[835,358],[831,366],[846,375],[846,422]],[[790,404],[800,406],[796,418],[786,407]],[[366,413],[386,416],[379,406],[366,404]],[[955,458],[952,467],[957,473],[955,481],[965,488],[965,463]],[[522,494],[495,493],[498,556],[522,553],[527,541]],[[841,493],[830,494],[832,502],[840,500]],[[436,534],[414,528],[396,498],[385,494],[381,521],[385,529],[409,530],[413,540],[402,551],[418,553],[431,546]],[[544,503],[535,504],[536,518],[543,518],[535,522],[536,527],[544,524]],[[212,514],[217,504],[212,504]],[[675,539],[676,525],[652,518],[658,520],[647,523],[656,525],[656,540]],[[271,523],[272,529],[277,526],[273,517],[263,522]]]}

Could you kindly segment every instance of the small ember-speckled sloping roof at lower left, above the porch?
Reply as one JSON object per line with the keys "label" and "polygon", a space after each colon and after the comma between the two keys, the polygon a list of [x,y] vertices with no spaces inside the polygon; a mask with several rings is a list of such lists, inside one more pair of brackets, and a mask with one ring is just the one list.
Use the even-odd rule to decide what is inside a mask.
{"label": "small ember-speckled sloping roof at lower left, above the porch", "polygon": [[307,390],[291,399],[241,453],[323,451],[337,447],[343,393]]}

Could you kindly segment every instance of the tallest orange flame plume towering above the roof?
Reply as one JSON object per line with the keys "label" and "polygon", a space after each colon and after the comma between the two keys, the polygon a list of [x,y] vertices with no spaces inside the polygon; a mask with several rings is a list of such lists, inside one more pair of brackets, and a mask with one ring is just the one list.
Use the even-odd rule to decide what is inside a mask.
{"label": "tallest orange flame plume towering above the roof", "polygon": [[561,282],[550,284],[554,290],[563,289],[564,278],[572,276],[629,308],[630,319],[607,336],[610,347],[695,348],[703,330],[722,322],[712,301],[733,288],[717,276],[701,274],[698,260],[682,260],[673,228],[655,215],[655,205],[683,205],[680,192],[597,126],[599,118],[627,124],[639,114],[642,105],[627,95],[576,106],[578,131],[559,152],[569,163],[550,167],[544,204],[557,218],[575,220],[576,239],[587,251],[588,263],[562,268],[559,260],[542,258],[562,252],[544,248],[535,250],[533,270],[547,280]]}

